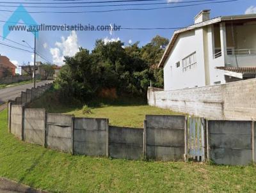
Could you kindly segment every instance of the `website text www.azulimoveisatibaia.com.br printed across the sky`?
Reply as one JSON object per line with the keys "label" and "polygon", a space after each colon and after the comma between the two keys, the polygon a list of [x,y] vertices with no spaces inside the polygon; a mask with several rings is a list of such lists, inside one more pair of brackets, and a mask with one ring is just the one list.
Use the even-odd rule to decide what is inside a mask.
{"label": "website text www.azulimoveisatibaia.com.br printed across the sky", "polygon": [[52,26],[46,24],[40,25],[31,25],[31,26],[22,26],[22,25],[10,25],[8,26],[10,31],[120,31],[121,26],[106,25],[106,26],[94,26],[91,24],[83,25],[60,25],[60,26]]}

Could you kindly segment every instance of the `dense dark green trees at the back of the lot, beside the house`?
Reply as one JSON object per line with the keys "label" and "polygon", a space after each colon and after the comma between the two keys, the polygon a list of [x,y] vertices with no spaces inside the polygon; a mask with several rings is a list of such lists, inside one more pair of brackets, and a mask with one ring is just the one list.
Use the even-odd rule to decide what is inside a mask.
{"label": "dense dark green trees at the back of the lot, beside the house", "polygon": [[[124,46],[123,42],[96,40],[90,52],[83,47],[65,65],[56,79],[61,96],[84,100],[106,95],[145,96],[147,88],[163,88],[163,69],[157,68],[168,39],[155,36],[150,43]],[[108,93],[111,92],[111,93]]]}

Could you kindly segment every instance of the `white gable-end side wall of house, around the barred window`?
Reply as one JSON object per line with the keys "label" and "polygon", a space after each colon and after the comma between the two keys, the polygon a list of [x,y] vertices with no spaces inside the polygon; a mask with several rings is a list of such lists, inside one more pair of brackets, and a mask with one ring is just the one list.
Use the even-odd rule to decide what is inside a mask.
{"label": "white gable-end side wall of house, around the barred window", "polygon": [[[196,52],[196,65],[183,72],[182,59]],[[180,61],[180,67],[176,63]],[[203,29],[187,31],[177,38],[164,64],[164,90],[205,86]]]}

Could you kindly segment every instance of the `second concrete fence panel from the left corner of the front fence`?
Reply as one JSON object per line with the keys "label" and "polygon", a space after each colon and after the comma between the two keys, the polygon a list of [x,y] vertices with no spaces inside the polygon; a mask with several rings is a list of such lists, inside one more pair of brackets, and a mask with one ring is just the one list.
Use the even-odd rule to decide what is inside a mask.
{"label": "second concrete fence panel from the left corner of the front fence", "polygon": [[45,109],[24,110],[24,141],[45,145]]}

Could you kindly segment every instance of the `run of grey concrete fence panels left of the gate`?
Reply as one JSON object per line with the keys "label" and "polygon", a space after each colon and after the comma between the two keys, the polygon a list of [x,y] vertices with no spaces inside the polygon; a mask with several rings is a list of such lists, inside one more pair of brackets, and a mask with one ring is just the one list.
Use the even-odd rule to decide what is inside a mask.
{"label": "run of grey concrete fence panels left of the gate", "polygon": [[47,113],[12,102],[8,114],[15,137],[65,153],[131,160],[174,161],[184,156],[185,116],[150,115],[144,128],[127,128],[109,125],[104,118]]}

